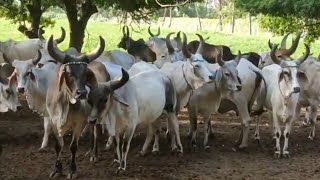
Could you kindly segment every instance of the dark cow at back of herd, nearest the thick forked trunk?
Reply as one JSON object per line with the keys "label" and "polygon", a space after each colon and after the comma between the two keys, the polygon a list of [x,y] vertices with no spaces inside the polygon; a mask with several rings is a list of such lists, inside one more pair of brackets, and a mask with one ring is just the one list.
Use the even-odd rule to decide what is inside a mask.
{"label": "dark cow at back of herd, nearest the thick forked trunk", "polygon": [[146,62],[154,62],[156,60],[156,54],[145,44],[143,39],[137,41],[130,38],[128,26],[122,28],[123,37],[118,44],[119,48],[123,48],[128,51],[129,54],[134,56],[137,60]]}

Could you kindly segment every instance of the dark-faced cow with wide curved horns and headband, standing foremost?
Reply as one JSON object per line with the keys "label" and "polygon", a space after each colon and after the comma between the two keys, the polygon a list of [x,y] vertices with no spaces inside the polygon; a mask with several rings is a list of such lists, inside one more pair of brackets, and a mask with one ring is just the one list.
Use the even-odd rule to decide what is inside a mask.
{"label": "dark-faced cow with wide curved horns and headband, standing foremost", "polygon": [[[88,90],[89,87],[97,85],[99,78],[107,79],[103,65],[101,63],[92,64],[92,61],[104,51],[104,39],[101,36],[99,39],[100,44],[94,52],[82,54],[79,57],[64,54],[58,48],[55,48],[52,35],[48,40],[47,50],[49,55],[59,62],[56,76],[49,83],[46,96],[46,108],[50,117],[51,129],[55,135],[57,154],[54,171],[50,174],[50,177],[62,174],[63,136],[69,130],[72,130],[72,141],[70,144],[71,162],[68,178],[75,178],[76,176],[78,141],[82,128],[88,119],[89,107],[86,101]],[[101,64],[102,69],[100,69],[99,64]],[[89,68],[89,65],[92,65],[92,68]]]}

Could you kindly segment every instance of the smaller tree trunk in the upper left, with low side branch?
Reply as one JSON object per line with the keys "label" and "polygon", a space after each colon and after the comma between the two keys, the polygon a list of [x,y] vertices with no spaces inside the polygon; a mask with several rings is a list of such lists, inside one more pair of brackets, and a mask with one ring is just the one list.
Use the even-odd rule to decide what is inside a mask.
{"label": "smaller tree trunk in the upper left, with low side branch", "polygon": [[30,13],[31,27],[27,28],[24,24],[19,26],[18,30],[26,35],[29,39],[38,38],[38,30],[43,13],[41,9],[41,0],[32,0],[32,2],[26,7]]}

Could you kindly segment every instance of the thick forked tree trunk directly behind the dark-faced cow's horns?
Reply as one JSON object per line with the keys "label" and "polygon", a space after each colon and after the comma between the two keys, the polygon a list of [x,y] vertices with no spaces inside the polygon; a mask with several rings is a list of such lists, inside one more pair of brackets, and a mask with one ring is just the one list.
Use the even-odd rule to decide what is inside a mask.
{"label": "thick forked tree trunk directly behind the dark-faced cow's horns", "polygon": [[[83,1],[80,9],[81,12],[79,13],[77,10],[77,0],[63,0],[63,3],[70,27],[69,47],[74,47],[78,52],[81,52],[87,23],[91,15],[98,12],[98,9],[92,4],[91,0]],[[79,17],[78,14],[80,14]]]}

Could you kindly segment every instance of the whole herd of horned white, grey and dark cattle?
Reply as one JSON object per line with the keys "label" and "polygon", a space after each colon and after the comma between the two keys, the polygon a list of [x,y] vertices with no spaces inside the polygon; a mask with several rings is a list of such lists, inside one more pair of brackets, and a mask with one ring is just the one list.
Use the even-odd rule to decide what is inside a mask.
{"label": "whole herd of horned white, grey and dark cattle", "polygon": [[[97,159],[97,128],[108,132],[106,148],[113,148],[117,173],[126,170],[130,142],[137,128],[146,129],[146,140],[140,151],[159,152],[161,122],[166,120],[171,150],[183,153],[177,113],[189,112],[191,146],[196,148],[197,117],[204,118],[203,147],[208,146],[212,133],[212,113],[236,111],[241,120],[239,148],[248,146],[249,123],[256,118],[255,138],[259,140],[259,119],[268,110],[273,121],[276,157],[289,157],[288,141],[294,120],[299,120],[302,107],[308,107],[305,123],[312,125],[309,138],[315,136],[317,108],[320,102],[320,63],[305,53],[298,59],[296,51],[301,33],[286,47],[289,34],[281,45],[268,45],[270,52],[232,54],[228,46],[199,40],[187,43],[184,33],[160,38],[150,31],[148,40],[133,40],[129,28],[123,27],[119,48],[128,53],[104,51],[105,41],[89,54],[74,48],[61,51],[57,44],[62,36],[0,42],[0,111],[17,111],[18,93],[25,95],[28,106],[44,120],[44,136],[39,150],[48,146],[55,136],[56,155],[51,177],[62,174],[63,136],[72,132],[71,162],[68,178],[77,172],[76,151],[81,135],[90,128],[92,146],[90,160]],[[182,38],[181,38],[182,36]],[[282,133],[279,122],[285,124]],[[280,138],[284,137],[280,148]]]}

